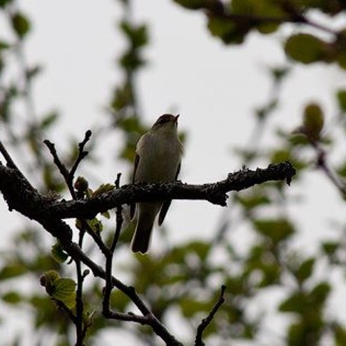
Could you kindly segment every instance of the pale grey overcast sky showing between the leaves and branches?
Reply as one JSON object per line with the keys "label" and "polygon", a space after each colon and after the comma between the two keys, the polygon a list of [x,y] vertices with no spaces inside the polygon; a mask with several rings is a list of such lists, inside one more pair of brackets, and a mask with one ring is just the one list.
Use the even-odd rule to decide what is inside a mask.
{"label": "pale grey overcast sky showing between the leaves and branches", "polygon": [[[104,106],[113,86],[121,82],[116,69],[116,57],[124,48],[124,39],[116,31],[121,8],[110,0],[19,3],[33,21],[26,46],[28,62],[44,66],[35,86],[37,113],[55,108],[61,112],[59,126],[49,136],[58,147],[66,147],[69,136],[82,138],[86,129],[107,123]],[[145,51],[149,66],[139,76],[145,121],[151,125],[162,113],[180,113],[179,127],[188,133],[181,179],[188,183],[224,179],[242,165],[232,148],[248,142],[252,111],[269,97],[266,66],[285,62],[280,39],[291,29],[270,37],[252,34],[242,46],[225,47],[209,35],[201,13],[184,10],[173,1],[134,1],[134,17],[149,23],[150,45]],[[335,68],[296,66],[285,84],[273,126],[293,129],[303,104],[311,100],[322,102],[331,116],[334,106],[330,99],[336,85],[345,85],[345,75]],[[101,147],[114,147],[115,157],[118,140],[113,138]],[[264,144],[272,143],[273,136],[266,141]],[[104,157],[108,161],[104,169],[91,170],[97,183],[113,181],[122,167],[116,161],[109,162],[108,154]],[[300,212],[297,218],[302,221],[306,215],[316,216],[318,210],[319,218],[311,220],[309,231],[314,228],[314,235],[322,237],[325,228],[320,227],[320,220],[340,219],[337,193],[318,173],[310,174],[304,182],[310,192],[309,203],[304,206],[305,214]],[[293,186],[288,193],[297,192]],[[2,199],[0,208],[6,210]],[[220,213],[220,207],[206,202],[175,202],[167,215],[167,225],[174,229],[170,237],[178,242],[195,236],[212,237]],[[0,212],[0,220],[6,224],[12,217]],[[311,233],[304,233],[302,239],[305,245],[313,242]]]}

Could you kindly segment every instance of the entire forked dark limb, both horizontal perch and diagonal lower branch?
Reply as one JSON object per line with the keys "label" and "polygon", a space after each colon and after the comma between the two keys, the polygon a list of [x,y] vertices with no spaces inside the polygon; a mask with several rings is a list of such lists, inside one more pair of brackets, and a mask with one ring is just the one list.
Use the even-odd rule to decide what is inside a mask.
{"label": "entire forked dark limb, both horizontal perch and diagonal lower branch", "polygon": [[[13,163],[10,155],[0,142],[0,152],[7,162],[7,166],[0,162],[0,192],[8,204],[10,210],[17,210],[25,217],[37,221],[43,228],[59,239],[64,251],[77,263],[83,263],[89,267],[95,277],[111,282],[108,286],[108,293],[111,288],[116,287],[122,293],[127,295],[136,305],[142,316],[134,313],[117,313],[111,311],[109,307],[105,310],[109,318],[117,320],[129,320],[143,325],[149,325],[154,332],[161,337],[167,345],[181,345],[178,340],[165,328],[165,326],[154,316],[145,302],[136,293],[134,287],[123,284],[116,277],[109,275],[111,271],[104,269],[93,262],[72,240],[72,230],[63,219],[77,217],[79,219],[91,219],[98,212],[104,212],[111,208],[121,210],[123,204],[130,204],[138,201],[157,201],[164,199],[200,199],[210,201],[211,203],[226,206],[227,192],[239,191],[249,188],[253,185],[264,183],[265,181],[286,181],[291,182],[295,169],[289,162],[269,165],[266,169],[240,170],[228,174],[227,179],[217,183],[208,183],[203,185],[188,185],[181,182],[165,184],[135,184],[125,185],[111,192],[106,192],[93,199],[56,201],[50,197],[39,194],[35,188],[28,182],[24,174],[20,172]],[[119,184],[118,184],[119,185]],[[118,223],[121,225],[120,211]],[[120,227],[120,226],[119,226]],[[114,244],[117,242],[118,232]],[[113,246],[112,246],[113,248]],[[112,249],[110,249],[112,250]],[[107,253],[109,260],[111,251]],[[110,262],[109,262],[110,264]],[[221,303],[219,303],[221,304]],[[215,305],[207,320],[212,320],[218,304]],[[215,311],[215,312],[214,312]],[[203,326],[210,322],[204,322]],[[205,329],[206,327],[200,327]],[[203,334],[203,330],[200,331]]]}

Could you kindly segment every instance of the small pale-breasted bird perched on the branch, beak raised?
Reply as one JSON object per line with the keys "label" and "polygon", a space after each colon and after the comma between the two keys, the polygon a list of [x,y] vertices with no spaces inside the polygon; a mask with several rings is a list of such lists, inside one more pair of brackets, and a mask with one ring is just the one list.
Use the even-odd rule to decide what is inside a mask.
{"label": "small pale-breasted bird perched on the branch, beak raised", "polygon": [[[134,176],[132,183],[167,183],[175,181],[180,171],[183,145],[178,137],[178,116],[163,114],[136,145]],[[146,253],[150,235],[158,212],[158,225],[161,226],[171,200],[136,203],[130,206],[131,219],[136,209],[137,226],[131,249]]]}

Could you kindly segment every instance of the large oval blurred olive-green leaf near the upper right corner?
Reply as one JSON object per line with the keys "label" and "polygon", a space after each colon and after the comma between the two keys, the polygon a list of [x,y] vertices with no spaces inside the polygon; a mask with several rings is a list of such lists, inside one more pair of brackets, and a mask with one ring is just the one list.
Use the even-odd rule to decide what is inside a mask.
{"label": "large oval blurred olive-green leaf near the upper right corner", "polygon": [[293,60],[302,64],[323,61],[326,57],[327,44],[309,34],[292,35],[286,41],[284,50]]}

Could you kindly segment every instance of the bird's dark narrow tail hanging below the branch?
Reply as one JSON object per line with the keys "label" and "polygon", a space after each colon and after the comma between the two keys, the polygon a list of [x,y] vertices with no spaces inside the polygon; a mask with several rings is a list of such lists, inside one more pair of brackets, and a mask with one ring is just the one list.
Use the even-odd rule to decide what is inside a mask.
{"label": "bird's dark narrow tail hanging below the branch", "polygon": [[138,207],[138,220],[131,242],[131,250],[134,253],[144,254],[148,251],[152,228],[161,203],[139,203]]}

